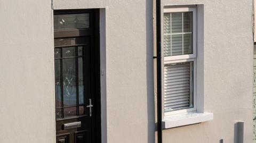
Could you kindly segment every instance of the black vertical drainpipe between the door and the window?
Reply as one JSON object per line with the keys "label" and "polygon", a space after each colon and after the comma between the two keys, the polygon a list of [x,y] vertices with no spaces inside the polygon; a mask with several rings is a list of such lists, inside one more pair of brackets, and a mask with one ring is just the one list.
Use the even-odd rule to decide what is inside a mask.
{"label": "black vertical drainpipe between the door and the window", "polygon": [[157,143],[162,143],[161,0],[156,0]]}

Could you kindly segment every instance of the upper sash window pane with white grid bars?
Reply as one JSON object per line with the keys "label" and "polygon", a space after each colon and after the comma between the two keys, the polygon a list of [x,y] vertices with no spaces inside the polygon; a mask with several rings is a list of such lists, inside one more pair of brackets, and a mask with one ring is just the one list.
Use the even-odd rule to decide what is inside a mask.
{"label": "upper sash window pane with white grid bars", "polygon": [[193,54],[192,12],[164,13],[164,56]]}

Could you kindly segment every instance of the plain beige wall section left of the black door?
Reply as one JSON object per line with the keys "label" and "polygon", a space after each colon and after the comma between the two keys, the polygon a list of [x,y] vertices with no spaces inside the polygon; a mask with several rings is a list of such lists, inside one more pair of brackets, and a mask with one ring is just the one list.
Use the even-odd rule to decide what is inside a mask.
{"label": "plain beige wall section left of the black door", "polygon": [[51,1],[0,1],[0,142],[54,142]]}

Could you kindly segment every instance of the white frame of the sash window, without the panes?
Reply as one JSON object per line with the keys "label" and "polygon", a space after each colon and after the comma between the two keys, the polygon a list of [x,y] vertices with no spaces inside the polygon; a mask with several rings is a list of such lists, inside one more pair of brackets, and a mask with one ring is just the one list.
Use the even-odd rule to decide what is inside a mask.
{"label": "white frame of the sash window, without the panes", "polygon": [[[196,86],[196,51],[197,51],[197,34],[196,34],[196,7],[171,7],[164,9],[164,13],[176,13],[176,12],[193,12],[193,54],[187,54],[187,55],[175,55],[175,56],[164,56],[163,48],[162,48],[162,111],[163,116],[169,116],[169,115],[175,115],[175,114],[185,114],[185,113],[195,113],[197,111],[197,86]],[[162,26],[162,31],[164,31],[164,27]],[[162,37],[164,37],[164,33],[162,32]],[[162,45],[163,47],[163,45]],[[169,111],[164,112],[164,65],[166,64],[172,64],[172,63],[182,63],[182,62],[193,62],[193,107],[187,108],[183,110],[177,110],[177,111]]]}

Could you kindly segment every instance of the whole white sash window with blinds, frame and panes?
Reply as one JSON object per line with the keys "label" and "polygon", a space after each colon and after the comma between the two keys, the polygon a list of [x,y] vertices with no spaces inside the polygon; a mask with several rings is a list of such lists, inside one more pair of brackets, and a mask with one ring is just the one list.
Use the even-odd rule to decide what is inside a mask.
{"label": "whole white sash window with blinds, frame and panes", "polygon": [[196,111],[196,8],[164,9],[164,115]]}

